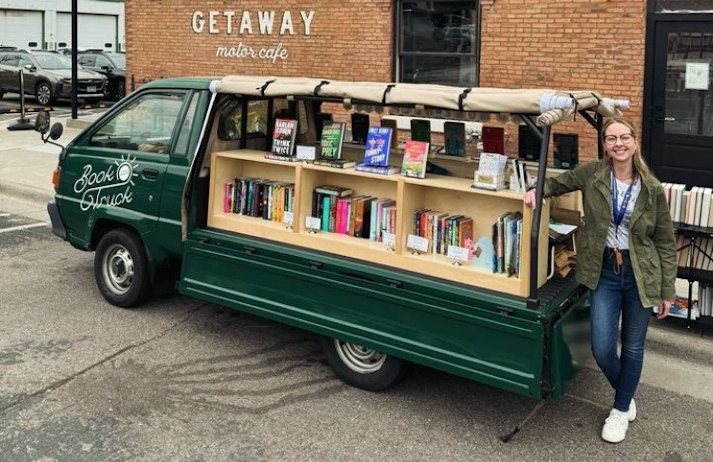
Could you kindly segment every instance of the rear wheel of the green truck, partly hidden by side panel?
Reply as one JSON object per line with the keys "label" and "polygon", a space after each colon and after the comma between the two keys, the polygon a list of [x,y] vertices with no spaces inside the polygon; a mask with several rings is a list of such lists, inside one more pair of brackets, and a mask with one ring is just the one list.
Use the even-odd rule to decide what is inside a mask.
{"label": "rear wheel of the green truck, partly hidden by side panel", "polygon": [[322,337],[322,348],[339,379],[362,390],[386,389],[399,381],[405,371],[401,359],[342,340]]}

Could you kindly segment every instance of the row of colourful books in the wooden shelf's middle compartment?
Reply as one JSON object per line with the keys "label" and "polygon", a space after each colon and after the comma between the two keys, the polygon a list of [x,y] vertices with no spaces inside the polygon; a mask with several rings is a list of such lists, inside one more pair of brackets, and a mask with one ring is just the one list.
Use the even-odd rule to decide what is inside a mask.
{"label": "row of colourful books in the wooden shelf's middle compartment", "polygon": [[312,217],[319,218],[322,231],[381,242],[384,232],[396,230],[396,201],[322,185],[312,192]]}

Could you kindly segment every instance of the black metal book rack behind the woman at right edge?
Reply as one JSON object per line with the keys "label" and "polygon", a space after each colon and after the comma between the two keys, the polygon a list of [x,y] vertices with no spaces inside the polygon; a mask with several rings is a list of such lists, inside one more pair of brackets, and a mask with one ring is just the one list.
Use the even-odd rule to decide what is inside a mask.
{"label": "black metal book rack behind the woman at right edge", "polygon": [[[677,249],[677,252],[687,252],[687,261],[679,262],[677,274],[679,279],[686,279],[688,281],[689,309],[686,317],[687,327],[691,327],[692,322],[702,326],[713,327],[713,317],[701,316],[695,320],[691,318],[693,312],[693,283],[713,284],[713,271],[702,270],[698,267],[709,267],[709,263],[713,263],[713,254],[701,245],[702,241],[707,242],[707,240],[713,239],[713,227],[694,226],[674,222],[674,230],[677,235],[689,240],[683,247]],[[697,255],[700,261],[693,262],[694,255]],[[684,265],[681,265],[681,263],[684,263]],[[701,303],[702,301],[699,300],[699,304]]]}

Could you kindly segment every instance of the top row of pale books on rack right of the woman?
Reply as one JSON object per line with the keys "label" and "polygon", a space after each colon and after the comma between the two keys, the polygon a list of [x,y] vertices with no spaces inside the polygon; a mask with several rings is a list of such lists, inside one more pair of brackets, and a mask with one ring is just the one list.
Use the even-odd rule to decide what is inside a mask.
{"label": "top row of pale books on rack right of the woman", "polygon": [[713,227],[713,188],[661,183],[671,211],[671,220],[686,225]]}

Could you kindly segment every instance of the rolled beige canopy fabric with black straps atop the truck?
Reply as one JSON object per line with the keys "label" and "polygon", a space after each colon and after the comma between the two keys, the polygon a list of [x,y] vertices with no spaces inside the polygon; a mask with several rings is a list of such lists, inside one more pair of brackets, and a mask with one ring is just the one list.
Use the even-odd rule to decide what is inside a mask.
{"label": "rolled beige canopy fabric with black straps atop the truck", "polygon": [[538,125],[552,125],[581,109],[591,109],[602,116],[620,115],[620,110],[627,109],[629,104],[627,100],[603,98],[585,90],[467,88],[281,76],[225,76],[213,82],[212,90],[245,96],[324,96],[376,105],[414,104],[449,110],[525,113],[536,116]]}

